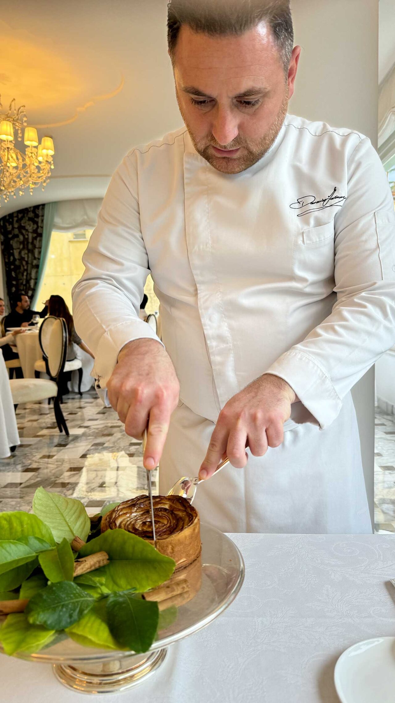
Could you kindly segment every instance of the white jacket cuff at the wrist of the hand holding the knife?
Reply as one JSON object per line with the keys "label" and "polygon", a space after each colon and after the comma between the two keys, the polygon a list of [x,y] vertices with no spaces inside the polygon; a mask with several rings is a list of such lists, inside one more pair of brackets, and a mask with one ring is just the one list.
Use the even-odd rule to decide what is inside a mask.
{"label": "white jacket cuff at the wrist of the hand holding the knife", "polygon": [[103,389],[107,386],[108,379],[115,369],[118,354],[128,342],[134,340],[155,340],[162,344],[160,338],[155,335],[153,328],[143,320],[128,321],[110,327],[101,337],[95,354],[95,363],[91,375],[96,378],[96,389]]}

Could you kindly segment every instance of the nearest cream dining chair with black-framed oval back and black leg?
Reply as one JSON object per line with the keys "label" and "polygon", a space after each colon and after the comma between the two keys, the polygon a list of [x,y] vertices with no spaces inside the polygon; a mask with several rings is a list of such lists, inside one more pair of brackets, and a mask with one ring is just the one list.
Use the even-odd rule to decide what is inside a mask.
{"label": "nearest cream dining chair with black-framed oval back and black leg", "polygon": [[69,434],[59,403],[58,378],[63,372],[67,356],[67,325],[63,318],[53,318],[47,344],[47,367],[50,378],[14,378],[10,380],[14,406],[47,398],[53,399],[59,432]]}

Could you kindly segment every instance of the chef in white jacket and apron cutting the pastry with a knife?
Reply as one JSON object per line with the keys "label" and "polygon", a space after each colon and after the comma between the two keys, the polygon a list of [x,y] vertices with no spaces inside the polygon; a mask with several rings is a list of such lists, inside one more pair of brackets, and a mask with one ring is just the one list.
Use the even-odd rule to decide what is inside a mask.
{"label": "chef in white jacket and apron cutting the pastry with a knife", "polygon": [[[368,138],[287,115],[288,1],[172,0],[186,127],[112,178],[74,290],[98,386],[224,531],[371,531],[350,389],[395,342],[395,215]],[[148,271],[162,347],[138,319]],[[246,446],[248,449],[246,451]]]}

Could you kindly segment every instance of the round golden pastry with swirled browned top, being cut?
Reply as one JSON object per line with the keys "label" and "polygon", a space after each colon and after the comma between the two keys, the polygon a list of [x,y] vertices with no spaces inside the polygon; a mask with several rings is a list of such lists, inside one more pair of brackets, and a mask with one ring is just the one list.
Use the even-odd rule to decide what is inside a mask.
{"label": "round golden pastry with swirled browned top, being cut", "polygon": [[[157,550],[183,569],[197,559],[202,550],[197,510],[181,496],[153,496]],[[101,521],[101,531],[122,528],[153,544],[150,501],[137,496],[119,503]]]}

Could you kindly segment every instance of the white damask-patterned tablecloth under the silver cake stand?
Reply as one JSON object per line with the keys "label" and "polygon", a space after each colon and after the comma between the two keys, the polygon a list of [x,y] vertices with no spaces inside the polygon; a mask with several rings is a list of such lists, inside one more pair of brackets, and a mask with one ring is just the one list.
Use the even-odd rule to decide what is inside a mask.
{"label": "white damask-patterned tablecloth under the silver cake stand", "polygon": [[[96,701],[338,703],[339,655],[358,641],[395,635],[394,536],[231,538],[246,569],[231,607],[170,647],[148,681]],[[6,703],[27,696],[31,703],[84,699],[63,688],[45,664],[0,656],[0,677]]]}

